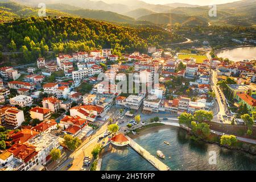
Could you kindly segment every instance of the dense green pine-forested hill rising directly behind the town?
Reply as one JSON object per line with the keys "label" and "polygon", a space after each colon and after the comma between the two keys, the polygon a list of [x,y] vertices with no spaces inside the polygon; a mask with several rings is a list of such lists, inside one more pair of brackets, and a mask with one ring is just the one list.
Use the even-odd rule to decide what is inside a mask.
{"label": "dense green pine-forested hill rising directly behind the town", "polygon": [[81,18],[15,19],[0,24],[0,49],[21,51],[24,61],[35,61],[48,51],[71,53],[112,48],[113,53],[140,51],[147,46],[179,42],[180,35],[161,28],[132,28]]}

